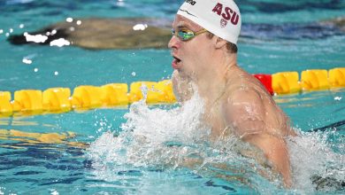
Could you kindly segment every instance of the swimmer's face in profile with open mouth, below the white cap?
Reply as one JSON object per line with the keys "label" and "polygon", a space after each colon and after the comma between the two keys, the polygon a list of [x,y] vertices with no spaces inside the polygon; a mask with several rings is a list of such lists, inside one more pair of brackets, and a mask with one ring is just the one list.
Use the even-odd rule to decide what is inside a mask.
{"label": "swimmer's face in profile with open mouth, below the white cap", "polygon": [[[181,29],[199,32],[203,30],[203,27],[183,16],[176,15],[173,21],[173,30],[179,32]],[[205,58],[210,58],[209,50],[211,49],[211,39],[207,37],[207,33],[196,35],[188,41],[173,35],[168,46],[172,49],[172,66],[180,74],[186,74],[192,79],[197,79],[199,73],[205,71],[203,68],[207,61]]]}

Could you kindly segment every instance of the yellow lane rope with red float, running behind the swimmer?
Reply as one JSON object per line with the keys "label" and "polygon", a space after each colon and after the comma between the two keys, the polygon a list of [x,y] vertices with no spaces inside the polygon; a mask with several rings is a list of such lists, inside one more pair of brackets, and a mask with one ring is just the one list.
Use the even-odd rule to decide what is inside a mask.
{"label": "yellow lane rope with red float, running behind the swimmer", "polygon": [[[345,67],[276,74],[253,74],[272,95],[294,94],[315,90],[345,88]],[[161,82],[111,83],[103,86],[82,85],[73,89],[0,91],[0,116],[13,113],[65,113],[109,106],[127,106],[143,98],[142,86],[147,88],[148,104],[175,103],[170,80]],[[130,89],[130,90],[129,90]],[[72,95],[72,96],[71,96]]]}

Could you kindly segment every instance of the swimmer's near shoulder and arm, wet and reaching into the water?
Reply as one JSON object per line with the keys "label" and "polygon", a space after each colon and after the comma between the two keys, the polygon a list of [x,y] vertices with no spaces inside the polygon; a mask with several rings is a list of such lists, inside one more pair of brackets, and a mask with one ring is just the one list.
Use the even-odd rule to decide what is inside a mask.
{"label": "swimmer's near shoulder and arm, wet and reaching into the water", "polygon": [[287,144],[265,131],[265,106],[259,94],[254,90],[235,91],[225,107],[226,124],[234,128],[234,134],[261,149],[273,170],[282,175],[285,185],[291,186]]}

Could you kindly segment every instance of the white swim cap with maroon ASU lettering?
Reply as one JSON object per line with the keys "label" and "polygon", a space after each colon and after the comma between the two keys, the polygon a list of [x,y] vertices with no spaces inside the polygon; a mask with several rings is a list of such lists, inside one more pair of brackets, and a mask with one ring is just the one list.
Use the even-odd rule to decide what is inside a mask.
{"label": "white swim cap with maroon ASU lettering", "polygon": [[242,19],[233,0],[186,0],[177,14],[230,43],[237,43]]}

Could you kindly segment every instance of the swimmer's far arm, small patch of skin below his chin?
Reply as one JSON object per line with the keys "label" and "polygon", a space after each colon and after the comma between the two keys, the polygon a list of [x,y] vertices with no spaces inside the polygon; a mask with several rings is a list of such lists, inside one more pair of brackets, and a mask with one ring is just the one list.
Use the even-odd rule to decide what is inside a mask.
{"label": "swimmer's far arm, small patch of skin below his chin", "polygon": [[183,103],[192,97],[193,89],[190,80],[180,76],[177,70],[173,71],[172,83],[173,94],[180,103]]}

